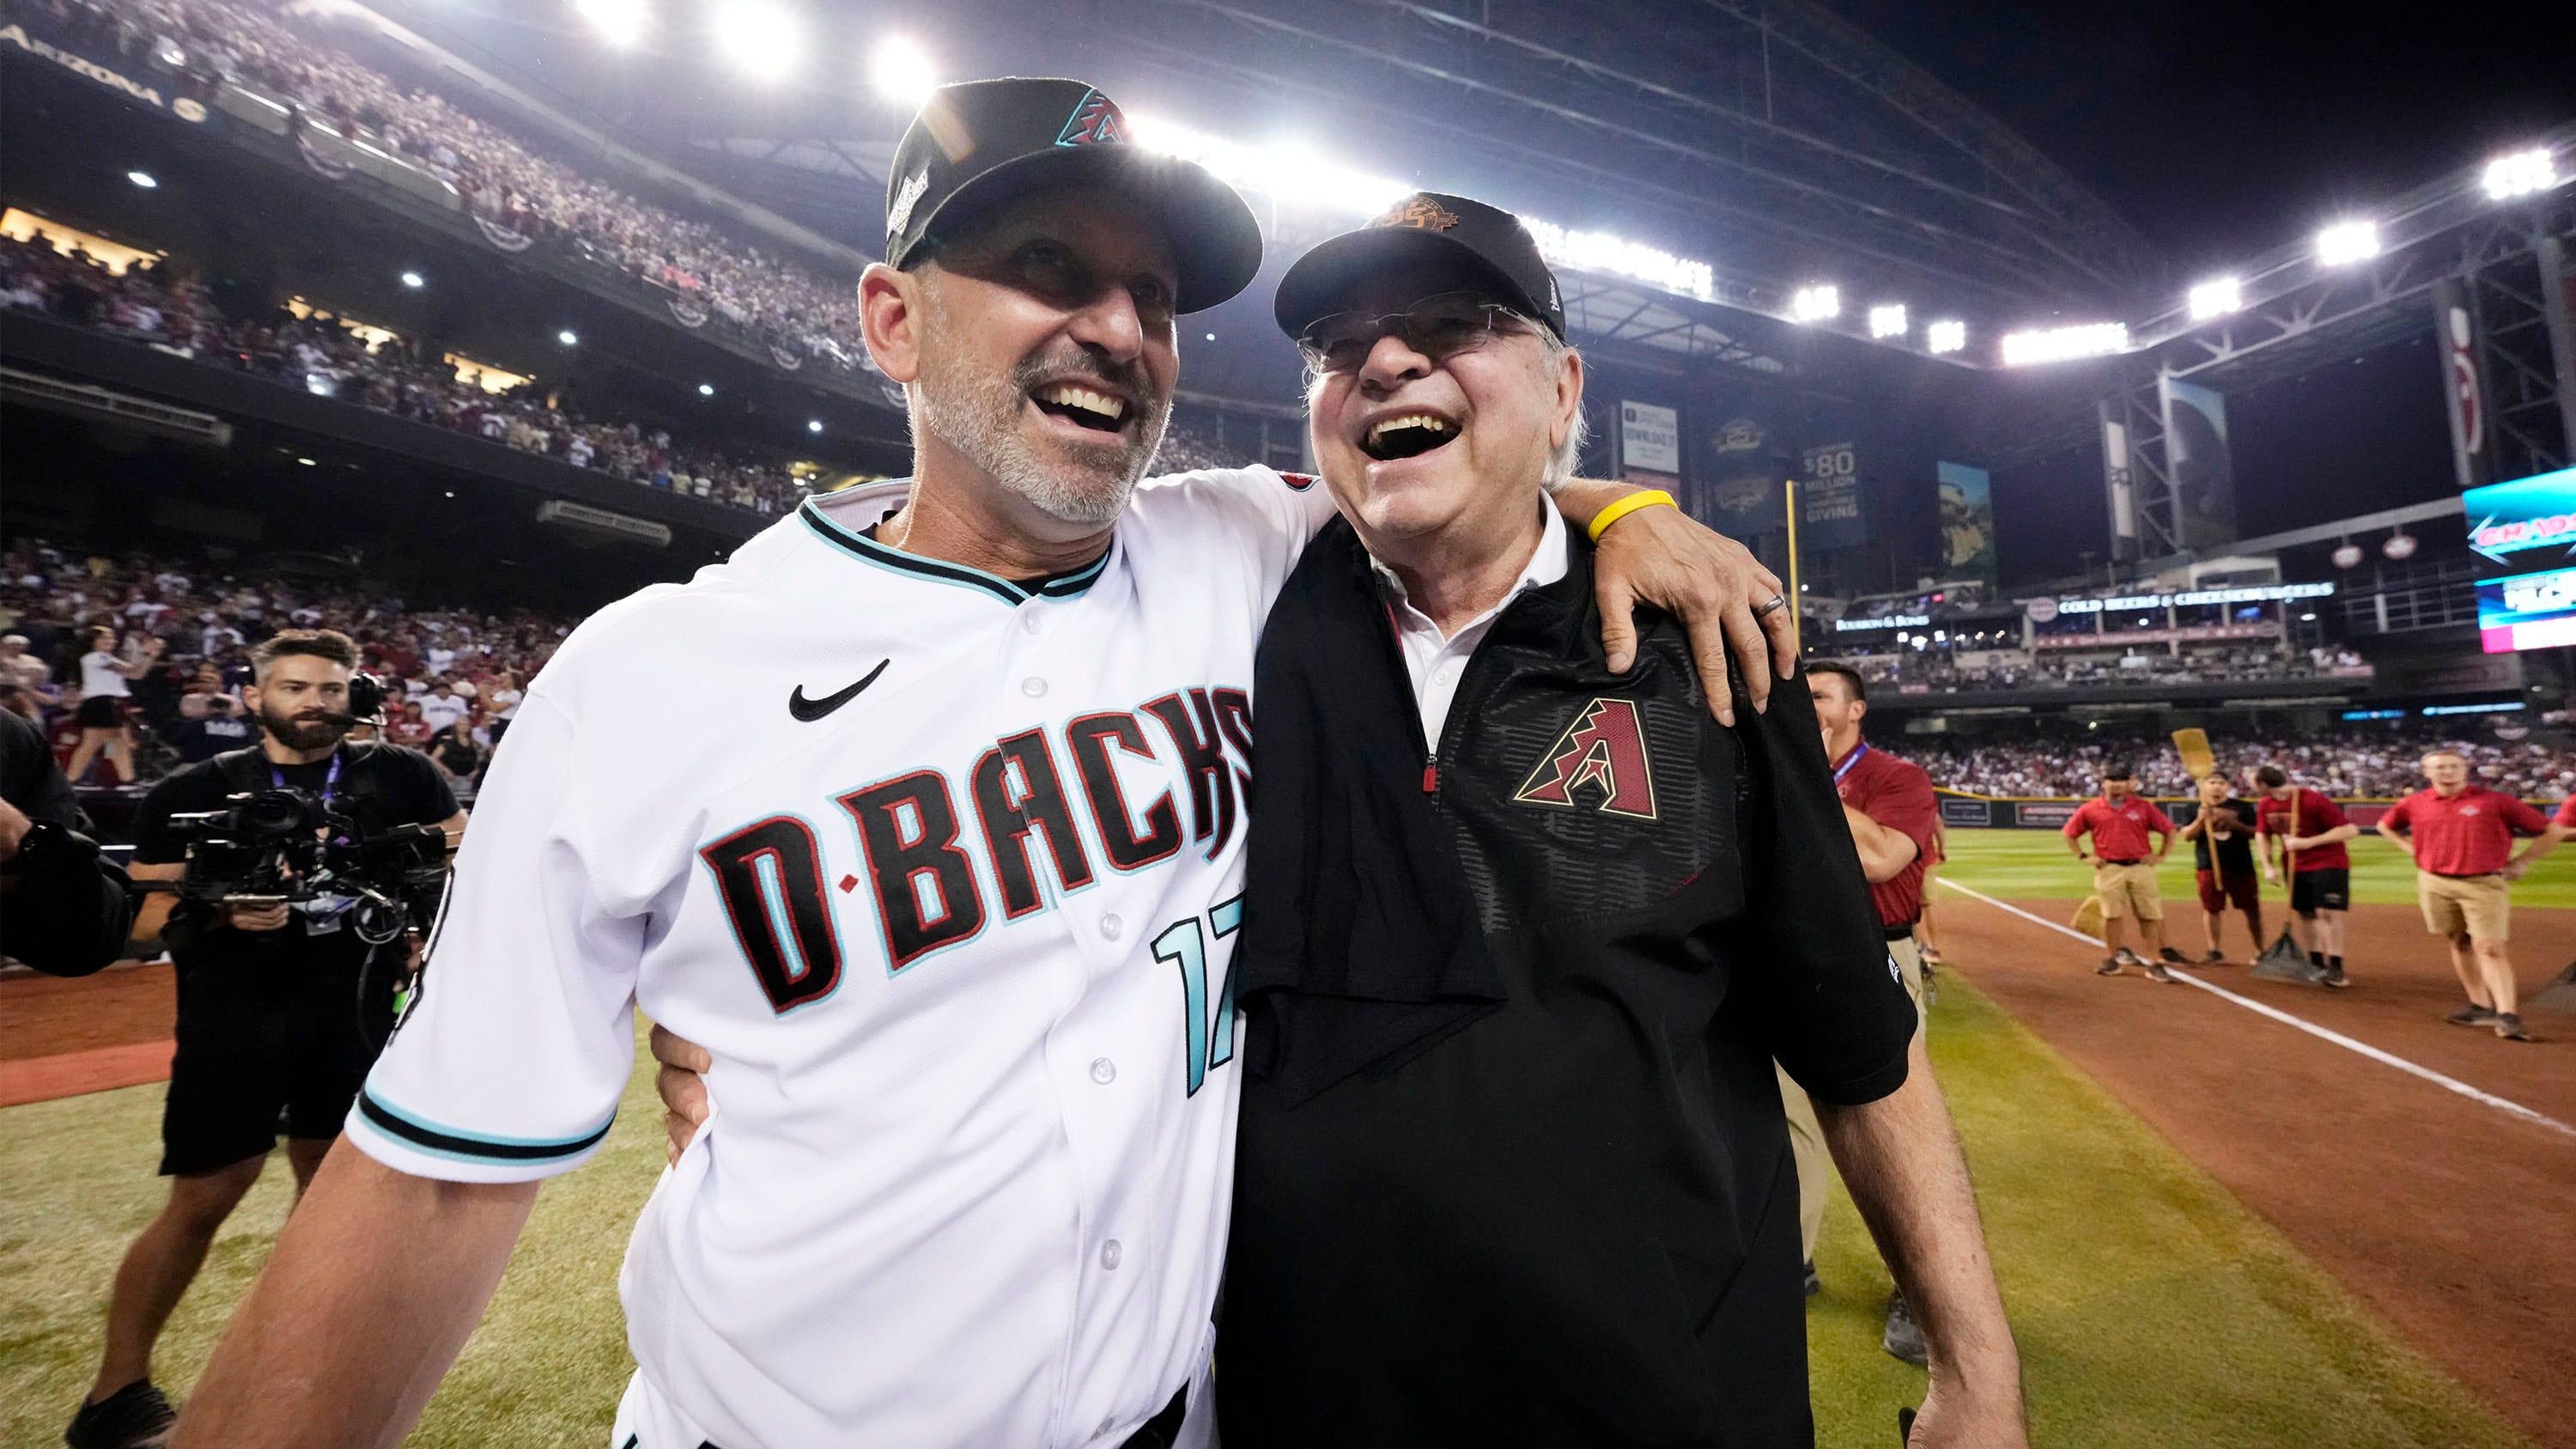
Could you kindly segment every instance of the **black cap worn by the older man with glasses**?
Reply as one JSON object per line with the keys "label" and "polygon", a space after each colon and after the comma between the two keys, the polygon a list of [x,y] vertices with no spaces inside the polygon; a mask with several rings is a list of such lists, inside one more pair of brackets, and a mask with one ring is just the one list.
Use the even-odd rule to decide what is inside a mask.
{"label": "black cap worn by the older man with glasses", "polygon": [[1303,338],[1306,327],[1345,312],[1345,297],[1360,281],[1425,258],[1455,266],[1463,284],[1566,335],[1566,304],[1556,273],[1538,255],[1538,237],[1502,206],[1440,191],[1414,191],[1358,232],[1327,237],[1296,258],[1280,278],[1280,330]]}

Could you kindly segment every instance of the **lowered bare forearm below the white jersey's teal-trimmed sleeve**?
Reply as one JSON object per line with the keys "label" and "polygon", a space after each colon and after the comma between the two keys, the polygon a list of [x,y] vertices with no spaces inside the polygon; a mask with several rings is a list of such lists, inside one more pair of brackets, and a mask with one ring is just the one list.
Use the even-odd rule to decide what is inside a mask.
{"label": "lowered bare forearm below the white jersey's teal-trimmed sleeve", "polygon": [[335,1142],[173,1449],[399,1444],[482,1323],[533,1201],[533,1181],[415,1178]]}

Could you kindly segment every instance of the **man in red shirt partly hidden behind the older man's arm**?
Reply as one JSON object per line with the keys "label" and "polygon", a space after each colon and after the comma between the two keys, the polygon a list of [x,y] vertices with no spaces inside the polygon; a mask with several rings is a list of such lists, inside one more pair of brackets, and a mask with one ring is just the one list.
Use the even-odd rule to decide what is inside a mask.
{"label": "man in red shirt partly hidden behind the older man's arm", "polygon": [[[1852,846],[1860,848],[1860,874],[1870,882],[1870,905],[1878,910],[1878,933],[1888,941],[1888,959],[1904,975],[1906,995],[1914,998],[1914,1031],[1922,1034],[1924,967],[1914,944],[1914,923],[1924,905],[1924,871],[1937,859],[1940,797],[1932,794],[1932,776],[1922,766],[1899,761],[1860,737],[1860,722],[1870,714],[1868,688],[1852,665],[1808,665],[1806,686],[1816,696],[1816,724],[1824,730],[1824,758],[1834,763],[1834,792],[1842,797],[1842,820],[1852,828]],[[1780,1070],[1775,1065],[1775,1070]],[[1806,1292],[1819,1292],[1816,1238],[1824,1230],[1824,1189],[1834,1160],[1824,1147],[1824,1129],[1816,1124],[1816,1104],[1780,1070],[1780,1104],[1788,1109],[1788,1147],[1798,1160],[1798,1240],[1806,1248]],[[1924,1336],[1906,1310],[1906,1294],[1888,1299],[1888,1325],[1878,1338],[1880,1348],[1906,1364],[1924,1361]]]}

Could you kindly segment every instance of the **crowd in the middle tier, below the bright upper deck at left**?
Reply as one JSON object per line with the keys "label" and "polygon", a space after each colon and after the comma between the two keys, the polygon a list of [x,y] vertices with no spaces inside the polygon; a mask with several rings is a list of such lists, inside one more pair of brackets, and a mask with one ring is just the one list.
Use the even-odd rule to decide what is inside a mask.
{"label": "crowd in the middle tier, below the bright upper deck at left", "polygon": [[77,245],[64,255],[41,237],[26,242],[0,237],[0,309],[41,309],[173,356],[234,366],[296,389],[752,513],[783,513],[804,498],[786,467],[675,443],[662,428],[590,420],[569,405],[546,407],[533,397],[533,387],[484,392],[459,382],[453,366],[422,364],[397,343],[371,348],[340,322],[283,309],[265,320],[224,317],[206,299],[204,284],[165,276],[173,271],[170,263],[129,266],[116,276]]}

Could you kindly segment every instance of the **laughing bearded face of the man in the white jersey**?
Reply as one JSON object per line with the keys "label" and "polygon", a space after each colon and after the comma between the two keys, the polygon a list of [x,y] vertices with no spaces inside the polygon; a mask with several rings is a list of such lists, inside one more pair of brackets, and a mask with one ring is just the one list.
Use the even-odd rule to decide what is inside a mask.
{"label": "laughing bearded face of the man in the white jersey", "polygon": [[860,297],[884,312],[902,294],[904,335],[878,364],[912,387],[922,433],[1046,518],[1095,529],[1162,443],[1177,286],[1131,199],[1064,188],[981,217],[917,271],[871,268]]}

